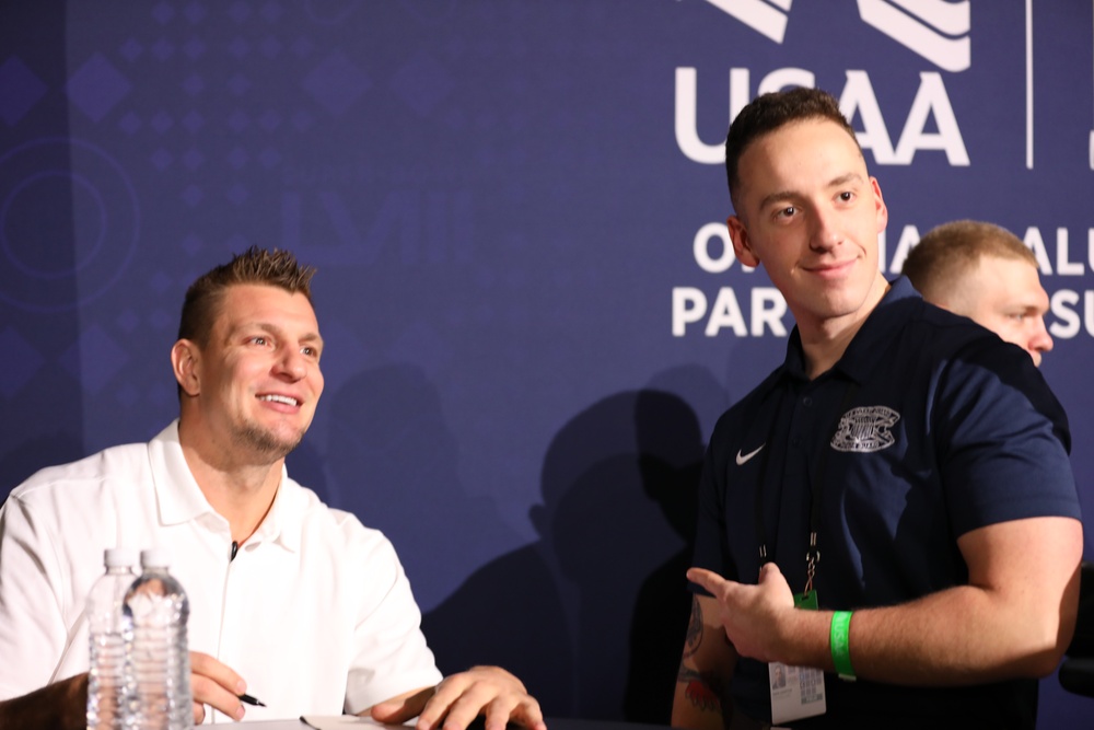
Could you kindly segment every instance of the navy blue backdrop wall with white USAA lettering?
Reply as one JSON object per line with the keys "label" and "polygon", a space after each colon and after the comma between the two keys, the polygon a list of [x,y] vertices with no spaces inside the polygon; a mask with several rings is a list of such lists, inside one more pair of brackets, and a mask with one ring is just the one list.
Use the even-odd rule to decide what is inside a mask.
{"label": "navy blue backdrop wall with white USAA lettering", "polygon": [[1034,246],[1094,512],[1094,22],[1032,4],[5,2],[0,490],[154,434],[186,285],[290,247],[328,341],[290,470],[392,537],[442,667],[665,719],[703,443],[792,324],[723,245],[760,90],[853,115],[886,273],[954,218]]}

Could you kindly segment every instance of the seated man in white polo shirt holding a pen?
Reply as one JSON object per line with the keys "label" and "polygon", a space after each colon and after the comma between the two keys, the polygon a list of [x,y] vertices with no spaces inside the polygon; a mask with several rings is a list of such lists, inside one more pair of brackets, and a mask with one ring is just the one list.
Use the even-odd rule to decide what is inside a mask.
{"label": "seated man in white polo shirt holding a pen", "polygon": [[43,470],[0,508],[0,727],[84,727],[84,599],[105,548],[154,545],[190,601],[196,722],[482,714],[545,730],[500,668],[442,680],[391,543],[289,477],[323,392],[313,273],[252,247],[199,278],[171,350],[179,418]]}

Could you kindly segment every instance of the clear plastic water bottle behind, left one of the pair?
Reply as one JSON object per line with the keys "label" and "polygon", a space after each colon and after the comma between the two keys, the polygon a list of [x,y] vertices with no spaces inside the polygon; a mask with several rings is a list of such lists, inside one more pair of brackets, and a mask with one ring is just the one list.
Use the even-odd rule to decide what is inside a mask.
{"label": "clear plastic water bottle behind, left one of the pair", "polygon": [[105,552],[106,572],[88,593],[90,638],[88,671],[88,730],[132,728],[132,685],[126,668],[132,641],[132,625],[121,613],[126,591],[137,573],[137,552],[114,547]]}

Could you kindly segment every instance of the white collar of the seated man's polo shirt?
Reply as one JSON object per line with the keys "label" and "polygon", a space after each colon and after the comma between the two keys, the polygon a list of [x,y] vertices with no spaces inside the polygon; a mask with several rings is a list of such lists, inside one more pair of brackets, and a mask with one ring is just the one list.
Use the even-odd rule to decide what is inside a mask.
{"label": "white collar of the seated man's polo shirt", "polygon": [[[206,514],[226,523],[226,520],[206,499],[186,464],[183,447],[178,442],[177,418],[148,445],[162,524],[183,524]],[[289,478],[288,471],[282,466],[281,484],[278,485],[270,511],[247,542],[276,542],[288,551],[298,552],[301,543],[300,532],[303,529],[302,515],[306,507],[304,501],[302,490]]]}

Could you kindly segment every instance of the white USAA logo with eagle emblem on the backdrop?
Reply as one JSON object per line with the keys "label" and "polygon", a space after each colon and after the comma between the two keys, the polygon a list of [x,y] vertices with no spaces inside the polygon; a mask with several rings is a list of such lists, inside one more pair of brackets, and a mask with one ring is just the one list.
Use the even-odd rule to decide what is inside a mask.
{"label": "white USAA logo with eagle emblem on the backdrop", "polygon": [[[757,33],[781,44],[790,20],[792,0],[706,0]],[[906,46],[944,71],[965,71],[971,65],[971,20],[969,0],[858,0],[859,16],[864,23]],[[776,69],[756,85],[756,94],[788,86],[815,86],[812,71],[800,68]],[[676,69],[676,143],[690,160],[703,164],[724,162],[722,140],[707,143],[696,126],[697,70]],[[730,69],[730,118],[752,99],[752,73],[747,68]],[[870,77],[862,70],[848,70],[839,106],[848,119],[858,116],[862,130],[859,144],[871,150],[881,165],[909,165],[919,150],[941,150],[951,166],[968,166],[968,152],[954,115],[942,74],[923,71],[911,108],[905,117],[896,142],[885,126]],[[936,131],[928,131],[930,120]]]}

